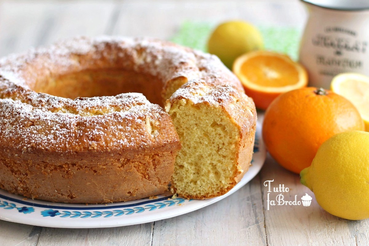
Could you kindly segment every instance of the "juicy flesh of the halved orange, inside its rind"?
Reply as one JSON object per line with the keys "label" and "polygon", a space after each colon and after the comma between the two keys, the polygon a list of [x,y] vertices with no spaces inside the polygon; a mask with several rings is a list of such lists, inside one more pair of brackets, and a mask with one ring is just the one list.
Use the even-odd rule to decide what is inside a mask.
{"label": "juicy flesh of the halved orange, inside its rind", "polygon": [[275,56],[255,56],[241,66],[241,73],[250,83],[265,87],[284,87],[299,81],[299,72],[293,64]]}

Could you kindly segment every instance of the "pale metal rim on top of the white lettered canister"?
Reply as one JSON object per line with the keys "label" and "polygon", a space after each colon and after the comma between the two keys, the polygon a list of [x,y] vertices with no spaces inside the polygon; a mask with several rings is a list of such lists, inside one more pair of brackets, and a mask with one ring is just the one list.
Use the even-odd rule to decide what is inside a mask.
{"label": "pale metal rim on top of the white lettered canister", "polygon": [[315,6],[330,8],[334,10],[367,10],[369,9],[369,0],[301,0],[304,3],[310,3]]}

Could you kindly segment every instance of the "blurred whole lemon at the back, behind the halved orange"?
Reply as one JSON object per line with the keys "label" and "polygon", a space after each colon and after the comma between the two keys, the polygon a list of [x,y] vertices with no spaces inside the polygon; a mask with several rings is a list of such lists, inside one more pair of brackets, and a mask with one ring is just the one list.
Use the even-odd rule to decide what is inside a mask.
{"label": "blurred whole lemon at the back, behind the halved orange", "polygon": [[208,40],[208,52],[218,56],[229,69],[238,56],[259,49],[263,49],[261,33],[244,21],[218,25]]}

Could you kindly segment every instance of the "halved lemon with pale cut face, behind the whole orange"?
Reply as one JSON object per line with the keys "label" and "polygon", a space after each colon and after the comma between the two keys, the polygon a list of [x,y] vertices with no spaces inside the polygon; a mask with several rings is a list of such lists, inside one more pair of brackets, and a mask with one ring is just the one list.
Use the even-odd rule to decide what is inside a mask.
{"label": "halved lemon with pale cut face, behind the whole orange", "polygon": [[369,77],[359,73],[340,73],[331,82],[331,89],[345,97],[358,109],[369,132]]}

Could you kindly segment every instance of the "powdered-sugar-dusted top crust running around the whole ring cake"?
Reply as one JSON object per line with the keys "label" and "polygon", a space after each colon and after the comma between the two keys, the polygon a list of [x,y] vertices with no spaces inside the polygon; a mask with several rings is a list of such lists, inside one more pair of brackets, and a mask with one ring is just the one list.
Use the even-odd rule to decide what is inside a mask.
{"label": "powdered-sugar-dusted top crust running around the whole ring cake", "polygon": [[[87,55],[91,58],[89,63],[81,63],[79,58]],[[180,76],[189,83],[206,80],[201,90],[182,88],[173,95],[197,102],[218,105],[229,100],[227,95],[231,93],[225,90],[235,90],[231,86],[222,89],[223,94],[213,93],[224,84],[242,90],[237,78],[218,58],[200,51],[149,38],[75,38],[0,59],[0,131],[4,141],[24,151],[32,148],[58,151],[66,146],[144,148],[155,138],[165,138],[166,129],[160,125],[169,115],[142,94],[72,100],[31,90],[42,77],[40,71],[52,75],[55,71],[63,74],[89,66],[99,68],[103,66],[98,62],[100,59],[114,67],[156,76],[163,86]],[[107,142],[107,137],[114,141]]]}

